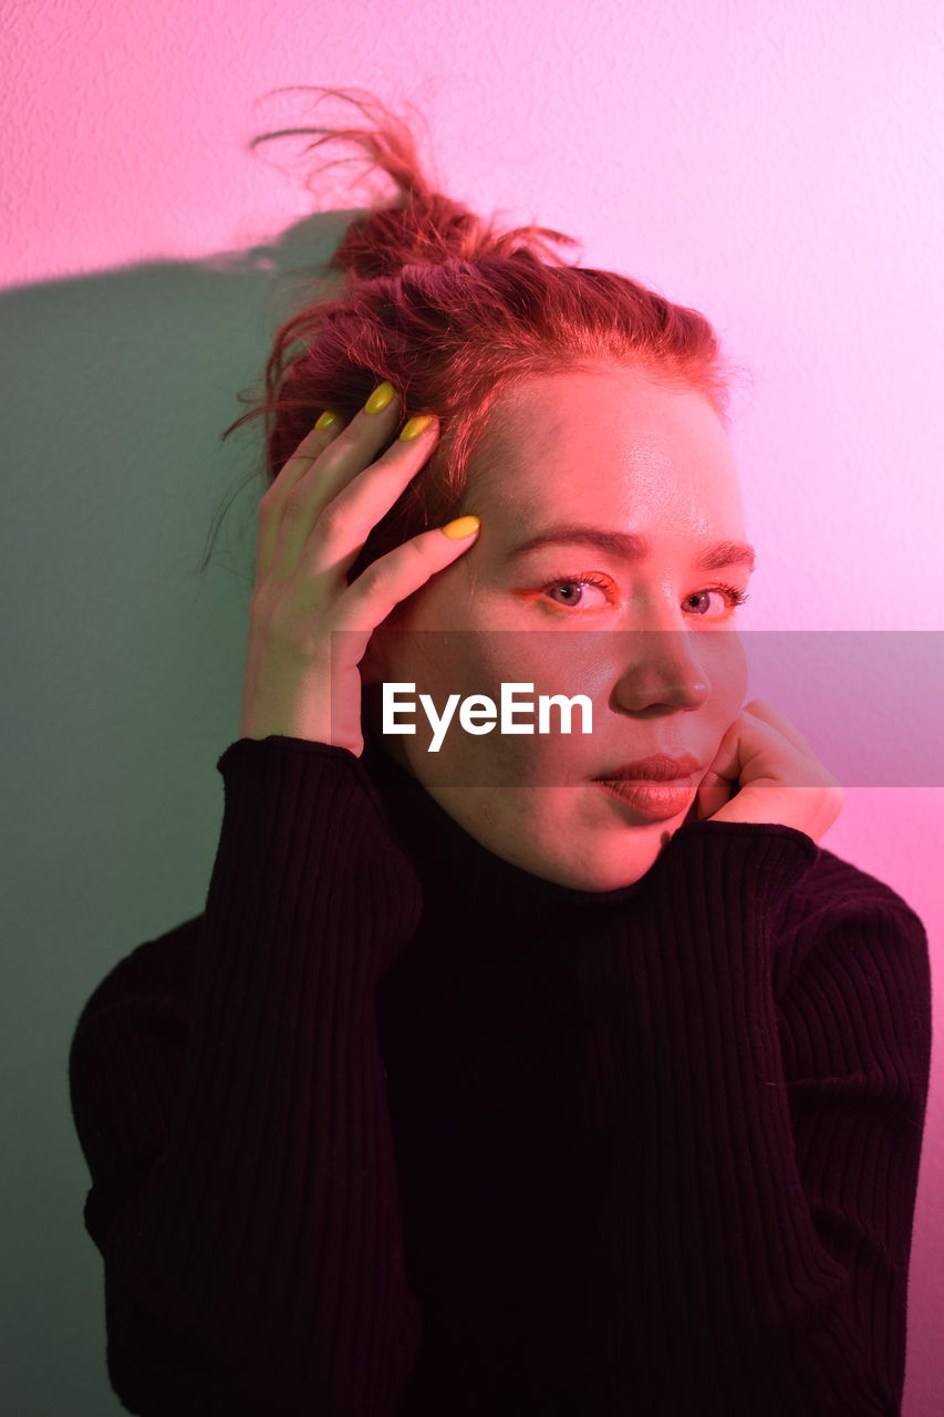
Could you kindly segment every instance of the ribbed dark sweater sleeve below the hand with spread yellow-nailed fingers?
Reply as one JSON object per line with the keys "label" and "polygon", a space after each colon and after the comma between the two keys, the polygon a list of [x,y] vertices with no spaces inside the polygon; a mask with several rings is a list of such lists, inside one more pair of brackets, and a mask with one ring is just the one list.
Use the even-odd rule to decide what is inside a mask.
{"label": "ribbed dark sweater sleeve below the hand with spread yellow-nailed fingers", "polygon": [[186,1030],[112,990],[69,1054],[109,1377],[140,1417],[383,1417],[421,1319],[374,993],[420,884],[347,750],[241,738],[217,768]]}

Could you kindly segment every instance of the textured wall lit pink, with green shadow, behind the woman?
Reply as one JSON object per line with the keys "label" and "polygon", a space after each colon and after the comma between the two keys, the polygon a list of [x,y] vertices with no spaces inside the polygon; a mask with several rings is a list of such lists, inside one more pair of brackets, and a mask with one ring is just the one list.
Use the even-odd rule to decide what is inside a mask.
{"label": "textured wall lit pink, with green shadow, behind the woman", "polygon": [[[248,153],[255,133],[303,120],[303,94],[272,91],[411,99],[452,196],[573,234],[581,264],[703,310],[754,376],[731,434],[760,548],[743,626],[923,632],[931,656],[944,632],[944,9],[30,0],[3,6],[1,33],[16,1224],[0,1401],[17,1417],[102,1417],[118,1403],[101,1261],[81,1226],[68,1039],[120,955],[203,908],[258,495],[237,502],[196,575],[215,509],[255,461],[251,438],[218,435],[261,376],[285,279],[330,254],[343,231],[330,213],[370,190],[344,167],[308,193],[298,145]],[[886,680],[884,716],[927,721],[924,682]],[[848,706],[853,737],[863,707]],[[940,1017],[943,784],[855,784],[824,843],[926,921]],[[906,1417],[944,1400],[941,1066],[935,1041]]]}

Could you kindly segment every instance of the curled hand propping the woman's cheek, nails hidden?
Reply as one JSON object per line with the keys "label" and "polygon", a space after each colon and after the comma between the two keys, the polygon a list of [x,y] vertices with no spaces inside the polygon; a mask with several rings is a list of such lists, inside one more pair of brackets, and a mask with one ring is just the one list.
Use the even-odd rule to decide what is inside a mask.
{"label": "curled hand propping the woman's cheek, nails hidden", "polygon": [[765,699],[753,699],[721,738],[697,789],[693,820],[774,822],[818,842],[843,801],[838,779],[802,734]]}

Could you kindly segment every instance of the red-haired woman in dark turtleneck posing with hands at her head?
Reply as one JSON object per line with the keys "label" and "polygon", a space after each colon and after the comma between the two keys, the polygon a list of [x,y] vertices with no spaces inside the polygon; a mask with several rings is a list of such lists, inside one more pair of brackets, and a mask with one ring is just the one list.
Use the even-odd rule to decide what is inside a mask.
{"label": "red-haired woman in dark turtleneck posing with hands at her head", "polygon": [[[390,115],[344,136],[403,201],[255,410],[206,911],[72,1044],[112,1384],[140,1414],[897,1413],[927,937],[743,707],[714,336],[434,193]],[[482,731],[507,684],[592,730]],[[434,752],[451,696],[479,717]]]}

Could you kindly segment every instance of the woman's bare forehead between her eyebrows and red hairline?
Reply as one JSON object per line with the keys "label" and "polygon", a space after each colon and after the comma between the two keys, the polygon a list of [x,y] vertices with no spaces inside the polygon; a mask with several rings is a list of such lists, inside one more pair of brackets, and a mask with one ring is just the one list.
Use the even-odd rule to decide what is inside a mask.
{"label": "woman's bare forehead between her eyebrows and red hairline", "polygon": [[[563,519],[626,529],[670,520],[733,534],[733,449],[707,398],[638,370],[567,370],[503,391],[472,461],[469,510],[519,536]],[[472,506],[475,502],[475,506]]]}

